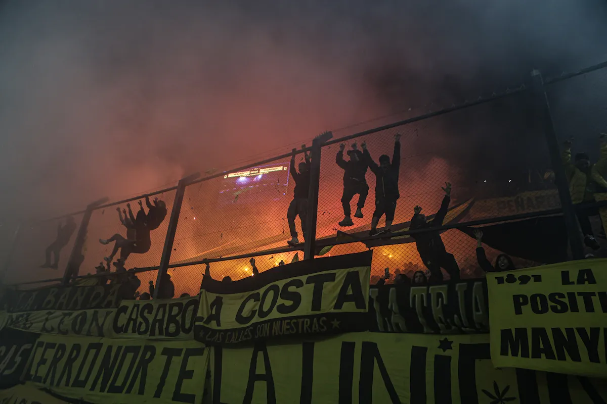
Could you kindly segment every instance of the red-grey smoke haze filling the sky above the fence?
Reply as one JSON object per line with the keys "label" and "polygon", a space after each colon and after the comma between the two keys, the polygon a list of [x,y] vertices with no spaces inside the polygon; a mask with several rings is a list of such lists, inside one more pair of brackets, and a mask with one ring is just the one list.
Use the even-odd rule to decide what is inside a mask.
{"label": "red-grey smoke haze filling the sky above the fence", "polygon": [[[324,130],[503,90],[534,67],[554,74],[600,62],[606,8],[2,1],[2,212],[44,217],[134,196]],[[436,139],[453,147],[456,131]]]}

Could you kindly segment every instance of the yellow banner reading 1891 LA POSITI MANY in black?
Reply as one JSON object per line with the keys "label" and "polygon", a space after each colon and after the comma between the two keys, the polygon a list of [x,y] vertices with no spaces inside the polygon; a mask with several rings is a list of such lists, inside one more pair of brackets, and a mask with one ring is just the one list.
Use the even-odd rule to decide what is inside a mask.
{"label": "yellow banner reading 1891 LA POSITI MANY in black", "polygon": [[495,366],[607,377],[607,259],[487,274]]}

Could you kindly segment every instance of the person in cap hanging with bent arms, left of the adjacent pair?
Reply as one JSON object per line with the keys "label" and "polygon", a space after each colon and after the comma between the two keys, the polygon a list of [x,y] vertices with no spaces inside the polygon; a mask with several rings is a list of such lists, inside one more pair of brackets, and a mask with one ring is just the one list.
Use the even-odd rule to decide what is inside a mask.
{"label": "person in cap hanging with bent arms, left of the adjacent pair", "polygon": [[345,144],[339,145],[339,151],[335,157],[335,162],[339,167],[344,169],[344,193],[342,194],[342,207],[344,207],[344,220],[339,222],[342,227],[348,227],[354,225],[352,218],[350,217],[351,208],[350,201],[354,195],[358,194],[358,204],[356,204],[356,213],[354,217],[362,217],[362,208],[365,206],[365,200],[367,200],[367,194],[369,192],[369,186],[367,185],[367,161],[364,159],[363,154],[356,143],[352,145],[352,150],[348,150],[349,161],[344,160],[344,149]]}

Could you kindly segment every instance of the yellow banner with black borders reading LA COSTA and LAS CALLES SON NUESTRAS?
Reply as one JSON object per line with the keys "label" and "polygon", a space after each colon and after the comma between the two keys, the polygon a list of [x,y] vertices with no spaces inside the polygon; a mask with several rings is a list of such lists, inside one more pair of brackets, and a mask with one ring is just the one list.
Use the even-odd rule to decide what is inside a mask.
{"label": "yellow banner with black borders reading LA COSTA and LAS CALLES SON NUESTRAS", "polygon": [[300,261],[238,282],[203,281],[195,338],[239,343],[368,328],[371,251]]}

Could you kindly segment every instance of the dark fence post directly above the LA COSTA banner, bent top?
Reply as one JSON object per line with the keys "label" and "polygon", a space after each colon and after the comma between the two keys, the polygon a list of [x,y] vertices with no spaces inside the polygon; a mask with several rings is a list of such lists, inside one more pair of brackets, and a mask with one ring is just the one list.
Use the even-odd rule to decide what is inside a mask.
{"label": "dark fence post directly above the LA COSTA banner, bent top", "polygon": [[304,259],[314,258],[316,247],[316,219],[318,214],[318,190],[320,186],[320,154],[322,144],[333,137],[331,132],[325,132],[314,137],[310,154],[310,188],[308,190],[308,218],[306,221],[307,237],[304,243]]}

